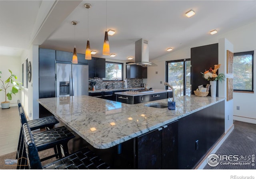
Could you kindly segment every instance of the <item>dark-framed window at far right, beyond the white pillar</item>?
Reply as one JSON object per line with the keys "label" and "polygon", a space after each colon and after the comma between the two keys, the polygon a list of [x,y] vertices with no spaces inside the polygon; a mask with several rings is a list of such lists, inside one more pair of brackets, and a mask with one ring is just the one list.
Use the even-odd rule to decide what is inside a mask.
{"label": "dark-framed window at far right, beyond the white pillar", "polygon": [[234,91],[253,92],[253,55],[254,51],[234,53]]}

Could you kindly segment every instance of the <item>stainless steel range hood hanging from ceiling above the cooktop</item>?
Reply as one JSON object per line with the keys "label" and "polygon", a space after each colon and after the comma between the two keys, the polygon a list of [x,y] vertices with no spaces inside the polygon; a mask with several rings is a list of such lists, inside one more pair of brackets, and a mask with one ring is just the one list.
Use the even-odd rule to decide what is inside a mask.
{"label": "stainless steel range hood hanging from ceiling above the cooktop", "polygon": [[139,39],[135,42],[135,63],[129,63],[129,65],[136,64],[142,67],[156,67],[157,65],[149,62],[149,46],[148,40]]}

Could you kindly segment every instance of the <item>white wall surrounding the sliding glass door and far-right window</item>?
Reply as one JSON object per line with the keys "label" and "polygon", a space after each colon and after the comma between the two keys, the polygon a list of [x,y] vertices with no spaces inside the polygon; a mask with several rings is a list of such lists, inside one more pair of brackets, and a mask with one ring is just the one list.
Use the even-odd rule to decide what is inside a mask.
{"label": "white wall surrounding the sliding glass door and far-right window", "polygon": [[[253,51],[256,54],[256,21],[251,24],[247,24],[240,28],[234,29],[232,31],[228,31],[223,35],[212,35],[212,38],[202,41],[200,43],[195,43],[189,45],[184,49],[180,49],[175,51],[171,51],[168,55],[159,57],[154,59],[152,62],[156,63],[158,67],[150,67],[148,68],[148,84],[152,87],[157,88],[159,86],[159,82],[165,79],[165,73],[161,73],[160,75],[154,75],[155,71],[162,69],[165,71],[165,61],[170,60],[178,60],[178,59],[187,59],[190,58],[190,48],[198,47],[202,45],[209,45],[213,43],[218,43],[219,39],[226,38],[230,43],[234,45],[234,53],[243,52],[243,51]],[[163,62],[164,61],[164,62]],[[254,55],[254,90],[256,84],[256,58]],[[236,73],[234,71],[234,73]],[[152,79],[150,77],[153,77]],[[256,94],[255,93],[242,93],[242,92],[234,92],[233,93],[233,111],[234,111],[234,120],[243,120],[247,122],[256,123],[255,116],[255,101]],[[236,110],[236,106],[240,106],[240,110]],[[239,117],[241,116],[241,117]]]}

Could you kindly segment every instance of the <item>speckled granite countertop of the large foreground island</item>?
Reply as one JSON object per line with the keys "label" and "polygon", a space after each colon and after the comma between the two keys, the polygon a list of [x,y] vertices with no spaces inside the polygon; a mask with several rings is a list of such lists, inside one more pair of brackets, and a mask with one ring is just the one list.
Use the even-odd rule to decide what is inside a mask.
{"label": "speckled granite countertop of the large foreground island", "polygon": [[176,110],[144,106],[168,99],[124,104],[92,96],[40,98],[38,101],[94,148],[106,149],[216,104],[224,98],[176,97]]}

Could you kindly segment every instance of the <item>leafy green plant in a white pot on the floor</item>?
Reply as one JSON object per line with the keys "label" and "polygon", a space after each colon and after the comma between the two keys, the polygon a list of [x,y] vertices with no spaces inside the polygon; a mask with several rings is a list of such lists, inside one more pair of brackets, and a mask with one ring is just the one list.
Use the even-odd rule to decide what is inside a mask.
{"label": "leafy green plant in a white pot on the floor", "polygon": [[[4,91],[5,94],[5,101],[1,102],[2,109],[6,109],[10,107],[10,102],[8,100],[12,100],[12,94],[15,94],[19,92],[20,88],[18,87],[20,84],[17,80],[17,76],[12,74],[12,71],[10,71],[10,77],[8,77],[5,81],[1,79],[0,75],[0,91]],[[2,71],[0,71],[0,74],[2,74]],[[10,89],[10,90],[9,90]]]}

